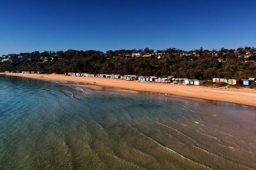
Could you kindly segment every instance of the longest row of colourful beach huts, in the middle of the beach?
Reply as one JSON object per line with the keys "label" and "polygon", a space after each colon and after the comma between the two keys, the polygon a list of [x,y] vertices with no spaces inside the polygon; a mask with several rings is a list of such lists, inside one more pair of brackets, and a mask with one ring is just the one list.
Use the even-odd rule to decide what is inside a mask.
{"label": "longest row of colourful beach huts, in the middle of the beach", "polygon": [[[66,73],[65,73],[66,74]],[[87,74],[87,73],[73,73],[69,72],[69,76],[78,77],[100,77],[100,78],[112,78],[121,80],[138,80],[141,82],[156,82],[156,83],[173,83],[173,84],[193,84],[203,85],[203,80],[187,79],[187,78],[174,78],[173,76],[138,76],[138,75],[120,75],[120,74]]]}

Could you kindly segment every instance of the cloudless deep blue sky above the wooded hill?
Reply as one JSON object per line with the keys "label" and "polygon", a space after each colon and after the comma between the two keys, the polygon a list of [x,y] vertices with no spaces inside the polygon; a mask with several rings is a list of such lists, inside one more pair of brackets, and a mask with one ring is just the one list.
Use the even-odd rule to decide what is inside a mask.
{"label": "cloudless deep blue sky above the wooded hill", "polygon": [[255,0],[1,0],[0,56],[256,47],[255,8]]}

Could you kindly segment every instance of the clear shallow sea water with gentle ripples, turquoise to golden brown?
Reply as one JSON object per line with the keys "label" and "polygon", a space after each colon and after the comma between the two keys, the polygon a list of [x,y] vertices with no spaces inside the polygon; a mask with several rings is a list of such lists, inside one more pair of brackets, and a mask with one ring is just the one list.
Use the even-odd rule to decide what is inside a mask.
{"label": "clear shallow sea water with gentle ripples, turquoise to golden brown", "polygon": [[256,108],[0,75],[0,169],[256,169]]}

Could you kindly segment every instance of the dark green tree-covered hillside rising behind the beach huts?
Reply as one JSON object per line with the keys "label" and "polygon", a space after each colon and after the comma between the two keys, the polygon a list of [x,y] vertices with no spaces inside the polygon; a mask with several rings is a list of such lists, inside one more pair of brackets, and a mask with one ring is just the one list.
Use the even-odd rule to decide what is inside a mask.
{"label": "dark green tree-covered hillside rising behind the beach huts", "polygon": [[[126,51],[124,51],[126,52]],[[127,51],[130,52],[130,51]],[[39,71],[50,73],[103,73],[103,74],[131,74],[145,76],[169,76],[199,80],[210,80],[214,77],[229,79],[248,79],[256,77],[256,63],[244,62],[243,58],[230,55],[219,62],[215,57],[209,56],[180,56],[170,54],[169,58],[138,57],[124,58],[113,57],[112,51],[107,55],[95,50],[88,51],[38,51],[32,53],[10,54],[13,62],[0,62],[0,71]],[[25,56],[23,60],[18,56]],[[43,62],[42,57],[56,57],[56,60]],[[249,58],[255,60],[255,56]]]}

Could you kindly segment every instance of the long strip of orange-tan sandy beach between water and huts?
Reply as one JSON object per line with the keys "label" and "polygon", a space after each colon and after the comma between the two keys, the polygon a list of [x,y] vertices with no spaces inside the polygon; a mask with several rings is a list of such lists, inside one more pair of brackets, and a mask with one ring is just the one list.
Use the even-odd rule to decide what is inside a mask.
{"label": "long strip of orange-tan sandy beach between water and huts", "polygon": [[[70,83],[75,86],[90,88],[92,90],[109,90],[131,94],[139,94],[139,91],[158,92],[163,93],[160,95],[163,97],[164,94],[167,93],[167,97],[180,98],[195,102],[204,102],[204,100],[216,100],[256,107],[256,90],[250,88],[211,88],[203,86],[186,86],[180,84],[125,81],[120,79],[107,79],[98,77],[65,76],[59,74],[0,74],[37,78],[60,83]],[[96,82],[95,85],[94,82]]]}

